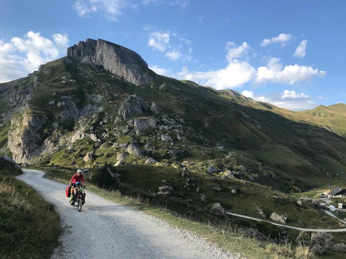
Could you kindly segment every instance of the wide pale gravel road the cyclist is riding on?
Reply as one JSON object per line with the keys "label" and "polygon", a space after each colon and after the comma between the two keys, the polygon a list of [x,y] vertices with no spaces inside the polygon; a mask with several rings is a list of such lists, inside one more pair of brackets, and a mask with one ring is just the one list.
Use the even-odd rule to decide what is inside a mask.
{"label": "wide pale gravel road the cyclist is riding on", "polygon": [[203,238],[172,228],[163,220],[88,193],[88,189],[82,211],[78,212],[69,204],[65,184],[43,178],[42,171],[23,171],[17,178],[54,203],[61,216],[62,246],[51,259],[244,258],[240,253],[222,252]]}

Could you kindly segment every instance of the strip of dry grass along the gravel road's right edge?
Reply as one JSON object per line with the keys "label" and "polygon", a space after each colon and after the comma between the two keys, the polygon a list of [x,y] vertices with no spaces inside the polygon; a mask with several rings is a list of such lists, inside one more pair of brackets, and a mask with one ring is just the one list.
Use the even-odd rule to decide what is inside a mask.
{"label": "strip of dry grass along the gravel road's right edge", "polygon": [[[40,169],[40,168],[36,168]],[[73,171],[69,169],[48,169],[45,175],[48,179],[54,179],[63,183],[69,183]],[[126,205],[130,208],[143,211],[146,214],[165,220],[172,227],[186,229],[194,234],[204,237],[207,241],[216,244],[231,253],[242,253],[251,259],[312,259],[315,258],[308,247],[296,246],[293,243],[277,244],[269,239],[265,242],[246,237],[246,229],[240,229],[230,223],[210,221],[210,219],[195,220],[190,214],[181,214],[173,211],[162,202],[157,202],[142,195],[124,194],[121,190],[100,189],[88,183],[87,192],[95,193],[107,200]]]}

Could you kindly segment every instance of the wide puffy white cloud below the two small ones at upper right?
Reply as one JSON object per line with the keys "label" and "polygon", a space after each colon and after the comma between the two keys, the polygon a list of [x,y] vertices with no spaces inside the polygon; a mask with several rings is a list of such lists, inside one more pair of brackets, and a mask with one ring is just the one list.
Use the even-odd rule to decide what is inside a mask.
{"label": "wide puffy white cloud below the two small ones at upper right", "polygon": [[325,71],[318,71],[318,69],[298,66],[297,64],[283,67],[279,61],[279,58],[271,58],[266,67],[259,67],[255,81],[257,83],[271,81],[292,85],[298,81],[310,80],[315,75],[324,76],[326,74]]}

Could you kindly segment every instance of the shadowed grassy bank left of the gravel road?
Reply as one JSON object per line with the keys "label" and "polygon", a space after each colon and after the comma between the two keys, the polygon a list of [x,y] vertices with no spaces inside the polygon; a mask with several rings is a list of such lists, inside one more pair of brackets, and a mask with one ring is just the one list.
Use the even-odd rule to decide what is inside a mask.
{"label": "shadowed grassy bank left of the gravel road", "polygon": [[0,159],[0,259],[49,258],[60,218],[54,204],[15,178],[20,171]]}

